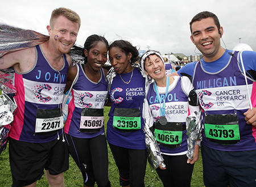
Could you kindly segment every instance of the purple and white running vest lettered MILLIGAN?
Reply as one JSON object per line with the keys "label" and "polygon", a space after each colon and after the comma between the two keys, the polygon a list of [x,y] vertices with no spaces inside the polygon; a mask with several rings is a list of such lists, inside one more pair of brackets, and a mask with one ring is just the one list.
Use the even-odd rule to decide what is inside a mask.
{"label": "purple and white running vest lettered MILLIGAN", "polygon": [[[249,109],[249,99],[246,91],[245,78],[240,72],[237,62],[238,52],[230,56],[228,64],[216,73],[208,73],[201,63],[195,66],[192,83],[199,95],[201,107],[206,114],[234,114],[237,113],[240,142],[233,145],[221,145],[210,142],[203,130],[203,143],[205,146],[221,151],[247,151],[255,150],[256,143],[251,125],[244,120],[244,112]],[[247,79],[249,90],[252,81]]]}

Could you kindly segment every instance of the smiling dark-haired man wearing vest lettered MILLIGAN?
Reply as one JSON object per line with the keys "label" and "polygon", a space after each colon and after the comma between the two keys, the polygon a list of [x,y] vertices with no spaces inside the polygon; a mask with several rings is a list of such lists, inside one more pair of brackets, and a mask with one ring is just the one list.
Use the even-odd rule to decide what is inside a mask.
{"label": "smiling dark-haired man wearing vest lettered MILLIGAN", "polygon": [[204,109],[204,184],[256,186],[256,53],[222,48],[224,30],[211,12],[197,14],[190,27],[203,58],[172,75],[191,79]]}

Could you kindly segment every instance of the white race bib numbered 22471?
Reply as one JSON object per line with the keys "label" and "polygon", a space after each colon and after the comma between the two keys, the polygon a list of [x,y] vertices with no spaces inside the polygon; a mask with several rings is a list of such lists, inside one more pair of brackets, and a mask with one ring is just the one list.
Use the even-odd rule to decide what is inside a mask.
{"label": "white race bib numbered 22471", "polygon": [[38,109],[36,112],[35,133],[48,133],[63,128],[60,108]]}

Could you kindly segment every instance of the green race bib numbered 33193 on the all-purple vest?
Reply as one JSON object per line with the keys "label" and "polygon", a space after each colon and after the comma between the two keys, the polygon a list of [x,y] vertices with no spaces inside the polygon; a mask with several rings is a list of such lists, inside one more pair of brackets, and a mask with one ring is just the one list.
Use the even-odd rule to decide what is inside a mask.
{"label": "green race bib numbered 33193 on the all-purple vest", "polygon": [[141,129],[141,111],[134,108],[115,108],[113,127],[123,131]]}

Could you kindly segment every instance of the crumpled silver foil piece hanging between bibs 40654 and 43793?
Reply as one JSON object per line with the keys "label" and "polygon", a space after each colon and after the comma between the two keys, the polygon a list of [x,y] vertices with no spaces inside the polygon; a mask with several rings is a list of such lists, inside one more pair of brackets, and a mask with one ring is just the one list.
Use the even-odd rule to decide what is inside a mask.
{"label": "crumpled silver foil piece hanging between bibs 40654 and 43793", "polygon": [[192,160],[195,143],[197,140],[201,139],[201,112],[193,112],[186,118],[186,128],[187,128],[187,143],[188,152],[187,157]]}

